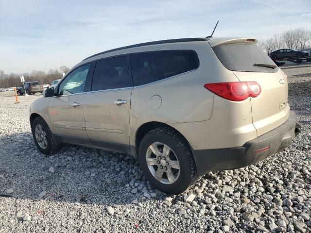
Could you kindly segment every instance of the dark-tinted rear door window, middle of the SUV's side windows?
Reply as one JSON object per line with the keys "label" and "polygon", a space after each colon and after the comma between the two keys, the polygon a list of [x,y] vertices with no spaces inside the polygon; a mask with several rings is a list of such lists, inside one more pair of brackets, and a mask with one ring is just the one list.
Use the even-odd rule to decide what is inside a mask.
{"label": "dark-tinted rear door window, middle of the SUV's side windows", "polygon": [[96,62],[91,91],[133,86],[128,57],[118,56]]}

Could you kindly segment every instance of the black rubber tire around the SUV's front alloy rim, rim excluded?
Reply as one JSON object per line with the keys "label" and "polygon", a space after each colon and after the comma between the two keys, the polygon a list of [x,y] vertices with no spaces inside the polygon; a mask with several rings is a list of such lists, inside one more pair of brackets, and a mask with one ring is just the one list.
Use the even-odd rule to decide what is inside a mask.
{"label": "black rubber tire around the SUV's front alloy rim, rim excluded", "polygon": [[[40,124],[42,126],[42,128],[44,129],[45,133],[46,133],[46,138],[47,138],[47,147],[45,149],[41,148],[36,140],[35,137],[35,127],[36,125]],[[34,137],[34,141],[35,141],[35,145],[37,146],[38,150],[43,153],[43,154],[53,154],[55,153],[58,149],[59,149],[59,145],[56,144],[53,140],[52,137],[52,132],[48,126],[48,124],[45,122],[45,120],[38,116],[35,118],[35,120],[33,121],[32,127],[31,127],[31,131],[33,133],[33,137]]]}

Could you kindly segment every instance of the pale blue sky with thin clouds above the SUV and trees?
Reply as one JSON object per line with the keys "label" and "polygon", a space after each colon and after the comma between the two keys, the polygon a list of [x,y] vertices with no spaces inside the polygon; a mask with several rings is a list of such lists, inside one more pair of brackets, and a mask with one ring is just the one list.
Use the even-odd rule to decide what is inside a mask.
{"label": "pale blue sky with thin clouds above the SUV and trees", "polygon": [[0,70],[73,67],[95,53],[185,37],[311,30],[311,0],[0,0]]}

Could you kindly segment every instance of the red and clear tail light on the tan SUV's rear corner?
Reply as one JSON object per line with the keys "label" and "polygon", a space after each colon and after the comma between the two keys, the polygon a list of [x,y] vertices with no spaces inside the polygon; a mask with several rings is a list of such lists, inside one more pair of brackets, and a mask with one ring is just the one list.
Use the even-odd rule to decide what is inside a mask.
{"label": "red and clear tail light on the tan SUV's rear corner", "polygon": [[204,87],[226,100],[242,101],[257,97],[261,87],[257,82],[207,83]]}

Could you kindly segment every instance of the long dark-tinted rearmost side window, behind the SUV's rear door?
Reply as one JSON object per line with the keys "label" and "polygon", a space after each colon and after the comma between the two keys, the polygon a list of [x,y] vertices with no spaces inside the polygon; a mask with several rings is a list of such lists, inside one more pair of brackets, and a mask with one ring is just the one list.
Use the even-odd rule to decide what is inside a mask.
{"label": "long dark-tinted rearmost side window, behind the SUV's rear door", "polygon": [[131,55],[134,86],[153,83],[199,67],[193,50],[163,50]]}

